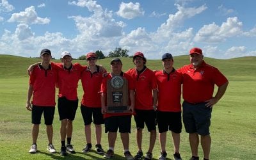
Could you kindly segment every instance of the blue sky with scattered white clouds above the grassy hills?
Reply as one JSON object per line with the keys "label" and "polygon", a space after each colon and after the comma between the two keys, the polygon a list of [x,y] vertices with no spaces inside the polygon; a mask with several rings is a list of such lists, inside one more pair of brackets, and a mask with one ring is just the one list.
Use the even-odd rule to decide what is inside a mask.
{"label": "blue sky with scattered white clouds above the grassy hills", "polygon": [[122,47],[160,59],[200,47],[211,58],[256,56],[255,6],[254,0],[1,0],[0,54],[35,57],[48,48],[55,58],[62,51],[77,58]]}

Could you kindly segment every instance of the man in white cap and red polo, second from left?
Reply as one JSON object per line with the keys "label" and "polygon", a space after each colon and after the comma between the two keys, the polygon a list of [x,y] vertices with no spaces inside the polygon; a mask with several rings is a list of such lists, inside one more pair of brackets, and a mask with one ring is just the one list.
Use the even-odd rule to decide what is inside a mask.
{"label": "man in white cap and red polo, second from left", "polygon": [[[78,107],[77,83],[81,77],[81,72],[86,68],[79,63],[72,63],[70,52],[61,52],[61,63],[51,63],[58,69],[58,112],[61,120],[61,156],[76,153],[71,145],[73,120]],[[65,139],[67,137],[67,145]]]}

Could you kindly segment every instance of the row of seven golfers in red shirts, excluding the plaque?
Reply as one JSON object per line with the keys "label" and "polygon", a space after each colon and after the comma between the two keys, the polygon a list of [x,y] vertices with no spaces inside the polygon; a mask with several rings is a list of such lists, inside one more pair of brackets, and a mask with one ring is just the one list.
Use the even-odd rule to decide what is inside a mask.
{"label": "row of seven golfers in red shirts, excluding the plaque", "polygon": [[[36,153],[39,125],[44,113],[44,122],[48,138],[47,150],[56,153],[52,145],[52,122],[55,111],[55,88],[58,88],[58,113],[60,116],[60,154],[75,154],[72,146],[72,121],[78,108],[77,84],[79,79],[83,86],[81,114],[84,120],[86,144],[82,150],[88,153],[92,150],[91,124],[95,125],[95,150],[106,159],[115,159],[115,141],[117,131],[124,147],[125,159],[152,159],[157,136],[161,146],[158,159],[166,159],[166,134],[172,134],[173,158],[180,156],[180,132],[182,120],[189,134],[191,160],[199,159],[198,146],[201,143],[204,159],[209,159],[211,149],[212,106],[224,95],[227,78],[216,67],[205,63],[202,49],[194,47],[189,51],[189,65],[179,69],[173,68],[173,56],[170,53],[162,55],[163,70],[153,71],[147,68],[147,59],[142,52],[135,52],[132,57],[134,68],[122,71],[122,61],[119,58],[111,60],[111,71],[108,73],[97,65],[97,54],[86,54],[88,65],[72,63],[70,52],[61,53],[61,63],[51,62],[51,51],[43,49],[40,52],[41,62],[31,65],[29,71],[29,88],[26,108],[31,111],[32,146],[29,153]],[[127,81],[129,95],[129,111],[125,113],[107,113],[106,97],[108,81],[114,76]],[[214,93],[214,86],[218,90]],[[182,104],[180,97],[183,97]],[[31,99],[32,98],[32,99]],[[136,141],[138,152],[132,156],[129,150],[129,134],[131,133],[131,118],[136,123]],[[108,133],[108,149],[101,145],[102,124]],[[143,154],[143,129],[149,132],[148,150]],[[67,141],[66,141],[67,140]],[[145,142],[145,141],[144,141]],[[145,145],[143,145],[145,146]]]}

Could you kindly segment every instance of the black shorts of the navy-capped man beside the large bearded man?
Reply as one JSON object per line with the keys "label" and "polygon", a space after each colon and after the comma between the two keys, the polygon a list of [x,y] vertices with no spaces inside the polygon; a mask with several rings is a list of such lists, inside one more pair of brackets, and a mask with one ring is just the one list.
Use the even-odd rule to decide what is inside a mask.
{"label": "black shorts of the navy-capped man beside the large bearded man", "polygon": [[180,133],[182,129],[181,112],[157,111],[158,131]]}

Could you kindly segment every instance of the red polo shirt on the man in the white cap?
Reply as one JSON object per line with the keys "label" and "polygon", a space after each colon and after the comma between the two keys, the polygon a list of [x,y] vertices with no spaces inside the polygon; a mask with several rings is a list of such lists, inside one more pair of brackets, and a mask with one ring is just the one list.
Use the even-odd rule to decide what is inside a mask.
{"label": "red polo shirt on the man in the white cap", "polygon": [[81,66],[79,63],[72,64],[70,68],[65,68],[61,63],[55,63],[55,67],[58,68],[58,97],[77,100],[77,84],[82,70],[86,67]]}

